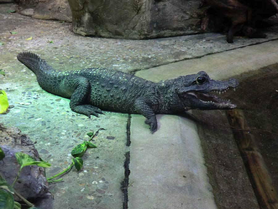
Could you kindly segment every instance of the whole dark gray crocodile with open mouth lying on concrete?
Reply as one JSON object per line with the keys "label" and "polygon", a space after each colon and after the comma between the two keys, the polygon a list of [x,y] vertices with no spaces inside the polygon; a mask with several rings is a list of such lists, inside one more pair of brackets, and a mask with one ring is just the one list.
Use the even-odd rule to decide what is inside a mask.
{"label": "whole dark gray crocodile with open mouth lying on concrete", "polygon": [[103,110],[137,113],[145,116],[151,133],[157,130],[155,114],[175,114],[190,109],[233,109],[230,100],[219,94],[238,86],[236,79],[215,81],[204,71],[175,79],[152,82],[131,73],[106,68],[60,71],[31,52],[17,55],[30,68],[42,89],[70,98],[74,112],[96,117]]}

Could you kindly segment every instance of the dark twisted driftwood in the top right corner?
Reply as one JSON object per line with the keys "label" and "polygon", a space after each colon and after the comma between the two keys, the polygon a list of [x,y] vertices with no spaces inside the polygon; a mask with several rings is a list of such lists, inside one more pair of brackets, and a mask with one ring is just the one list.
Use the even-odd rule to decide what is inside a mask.
{"label": "dark twisted driftwood in the top right corner", "polygon": [[210,19],[215,24],[223,24],[223,30],[228,30],[228,43],[233,43],[235,33],[265,38],[266,34],[255,29],[255,22],[278,12],[277,0],[201,0],[200,6],[203,5],[209,8],[204,12],[201,29],[207,28]]}

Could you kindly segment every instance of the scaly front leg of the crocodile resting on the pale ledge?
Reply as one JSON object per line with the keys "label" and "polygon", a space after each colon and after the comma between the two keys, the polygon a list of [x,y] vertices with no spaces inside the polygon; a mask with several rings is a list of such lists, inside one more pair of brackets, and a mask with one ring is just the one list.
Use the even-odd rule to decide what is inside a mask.
{"label": "scaly front leg of the crocodile resting on the pale ledge", "polygon": [[145,123],[150,125],[150,131],[151,133],[154,133],[157,130],[157,120],[154,110],[150,108],[144,98],[137,98],[134,105],[136,111],[147,118]]}

